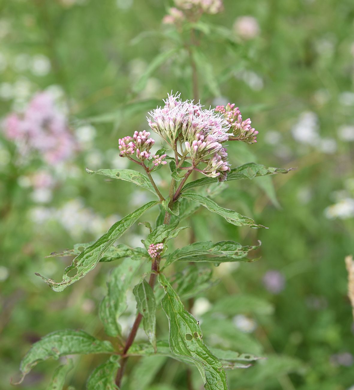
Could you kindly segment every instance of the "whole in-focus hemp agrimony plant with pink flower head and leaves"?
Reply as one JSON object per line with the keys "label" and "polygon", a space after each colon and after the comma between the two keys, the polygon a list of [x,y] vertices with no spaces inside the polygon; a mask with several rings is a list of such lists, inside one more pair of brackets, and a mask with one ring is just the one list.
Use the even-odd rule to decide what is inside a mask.
{"label": "whole in-focus hemp agrimony plant with pink flower head and leaves", "polygon": [[[165,105],[148,115],[150,129],[165,142],[154,154],[155,141],[148,131],[135,131],[132,136],[119,139],[119,153],[138,167],[131,169],[101,169],[90,174],[100,174],[112,179],[130,181],[156,195],[132,211],[94,243],[77,244],[72,250],[56,255],[75,255],[71,265],[64,270],[60,282],[39,274],[53,291],[63,291],[85,277],[98,262],[120,264],[112,269],[108,291],[99,306],[99,317],[104,330],[116,342],[98,340],[82,330],[60,330],[36,342],[23,358],[20,370],[23,377],[39,362],[48,358],[73,354],[107,354],[108,360],[99,365],[87,380],[87,389],[119,389],[130,356],[168,356],[181,364],[195,365],[200,372],[204,388],[228,389],[226,369],[246,368],[257,356],[239,354],[205,345],[199,321],[186,310],[183,300],[200,294],[211,278],[211,273],[199,274],[200,263],[218,265],[222,262],[250,261],[248,254],[259,245],[242,246],[234,241],[195,242],[175,250],[168,249],[168,241],[177,237],[186,226],[180,225],[198,207],[206,207],[227,222],[254,229],[264,228],[252,218],[219,206],[212,198],[225,188],[224,181],[252,179],[275,173],[286,173],[280,168],[266,168],[248,163],[230,169],[227,144],[241,141],[256,142],[257,131],[250,119],[243,120],[234,104],[205,109],[194,101],[181,101],[179,94],[168,95]],[[155,183],[152,173],[170,169],[168,193],[163,193]],[[192,172],[201,177],[188,181]],[[116,244],[129,227],[149,209],[155,208],[157,220],[152,227],[145,222],[150,233],[143,240],[144,248],[131,248]],[[184,269],[170,276],[169,267],[182,263]],[[141,275],[133,288],[136,298],[136,318],[126,339],[122,336],[120,316],[126,310],[126,292],[139,269],[150,263],[150,272]],[[70,276],[69,276],[70,273]],[[74,273],[74,275],[73,275]],[[167,276],[169,275],[169,276]],[[186,294],[186,290],[188,294]],[[156,334],[156,311],[162,307],[169,322],[168,340]],[[142,326],[148,342],[137,342],[136,334]],[[161,329],[161,325],[159,325]],[[55,371],[48,388],[62,389],[65,376],[73,362],[61,365]],[[21,380],[22,380],[21,379]],[[142,378],[142,381],[144,379]]]}

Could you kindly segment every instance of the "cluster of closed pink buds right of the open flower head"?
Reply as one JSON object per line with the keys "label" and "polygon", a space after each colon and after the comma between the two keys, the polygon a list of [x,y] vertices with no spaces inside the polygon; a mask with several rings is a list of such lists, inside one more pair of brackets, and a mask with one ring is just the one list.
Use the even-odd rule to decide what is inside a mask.
{"label": "cluster of closed pink buds right of the open flower head", "polygon": [[[254,144],[257,142],[256,135],[258,131],[251,127],[251,119],[242,120],[242,115],[235,104],[225,106],[216,106],[216,112],[223,114],[225,120],[230,123],[230,129],[235,136],[235,140],[246,142],[247,144]],[[232,139],[232,138],[231,138]]]}

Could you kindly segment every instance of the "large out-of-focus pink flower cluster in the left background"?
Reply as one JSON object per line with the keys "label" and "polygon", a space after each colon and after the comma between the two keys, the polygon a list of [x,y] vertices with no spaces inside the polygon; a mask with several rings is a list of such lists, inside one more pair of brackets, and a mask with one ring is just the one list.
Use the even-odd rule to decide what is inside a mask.
{"label": "large out-of-focus pink flower cluster in the left background", "polygon": [[65,116],[47,92],[36,94],[23,115],[12,113],[5,118],[3,131],[22,156],[36,152],[51,165],[69,159],[77,150]]}

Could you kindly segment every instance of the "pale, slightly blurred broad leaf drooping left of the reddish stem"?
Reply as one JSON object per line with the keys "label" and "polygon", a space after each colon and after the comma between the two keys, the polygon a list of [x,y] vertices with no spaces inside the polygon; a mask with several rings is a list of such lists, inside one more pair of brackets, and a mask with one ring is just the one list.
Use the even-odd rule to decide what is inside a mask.
{"label": "pale, slightly blurred broad leaf drooping left of the reddish stem", "polygon": [[99,318],[104,325],[104,331],[108,336],[121,335],[119,317],[127,308],[126,293],[135,271],[140,263],[125,259],[118,267],[113,268],[107,282],[107,295],[99,306]]}

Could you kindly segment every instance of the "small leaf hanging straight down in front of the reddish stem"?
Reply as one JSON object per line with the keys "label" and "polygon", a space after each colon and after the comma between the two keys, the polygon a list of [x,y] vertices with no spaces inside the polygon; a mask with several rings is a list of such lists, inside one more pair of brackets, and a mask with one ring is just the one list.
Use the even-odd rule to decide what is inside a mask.
{"label": "small leaf hanging straight down in front of the reddish stem", "polygon": [[145,333],[151,345],[156,350],[156,301],[154,291],[149,283],[143,278],[143,280],[134,287],[133,293],[136,298],[136,308],[143,316]]}

